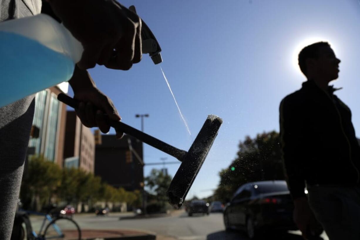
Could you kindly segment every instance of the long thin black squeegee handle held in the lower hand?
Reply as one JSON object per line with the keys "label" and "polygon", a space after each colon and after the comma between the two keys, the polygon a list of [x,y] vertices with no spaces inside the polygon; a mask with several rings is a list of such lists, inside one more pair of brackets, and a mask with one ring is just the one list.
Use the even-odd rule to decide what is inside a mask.
{"label": "long thin black squeegee handle held in the lower hand", "polygon": [[[80,103],[78,100],[73,99],[63,93],[60,93],[58,95],[58,100],[72,108],[78,108],[79,103]],[[110,126],[119,130],[120,132],[131,135],[132,137],[135,137],[135,138],[139,139],[140,141],[142,141],[154,148],[157,148],[160,151],[166,152],[167,154],[169,154],[173,157],[176,157],[179,161],[181,161],[182,157],[186,154],[186,151],[180,150],[176,147],[168,145],[167,143],[165,143],[157,138],[154,138],[144,132],[141,132],[138,129],[133,128],[125,123],[122,123],[121,121],[109,120],[109,124],[110,124]]]}

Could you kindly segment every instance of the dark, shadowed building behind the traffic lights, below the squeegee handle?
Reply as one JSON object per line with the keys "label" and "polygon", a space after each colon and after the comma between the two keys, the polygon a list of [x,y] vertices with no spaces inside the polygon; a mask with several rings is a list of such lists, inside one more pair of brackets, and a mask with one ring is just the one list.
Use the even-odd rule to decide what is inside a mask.
{"label": "dark, shadowed building behind the traffic lights, below the squeegee handle", "polygon": [[95,175],[113,187],[127,191],[142,190],[144,186],[143,144],[125,135],[101,135],[95,150]]}

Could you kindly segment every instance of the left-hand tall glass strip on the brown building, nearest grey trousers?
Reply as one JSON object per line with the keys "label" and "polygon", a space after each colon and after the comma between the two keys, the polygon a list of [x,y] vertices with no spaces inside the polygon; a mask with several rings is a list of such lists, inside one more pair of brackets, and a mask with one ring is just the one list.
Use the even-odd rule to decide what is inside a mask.
{"label": "left-hand tall glass strip on the brown building, nearest grey trousers", "polygon": [[35,95],[35,112],[32,125],[37,126],[40,129],[39,138],[30,138],[29,147],[35,147],[35,154],[40,154],[41,149],[41,136],[44,126],[44,117],[45,117],[45,107],[46,107],[46,97],[48,92],[42,90],[41,92],[36,93]]}

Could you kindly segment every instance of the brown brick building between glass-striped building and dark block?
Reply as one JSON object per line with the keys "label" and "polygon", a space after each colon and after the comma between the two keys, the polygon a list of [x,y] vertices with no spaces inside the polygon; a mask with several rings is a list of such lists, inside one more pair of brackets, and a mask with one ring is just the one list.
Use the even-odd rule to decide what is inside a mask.
{"label": "brown brick building between glass-striped building and dark block", "polygon": [[67,111],[64,142],[64,167],[94,173],[95,139],[90,128],[81,124],[75,111]]}

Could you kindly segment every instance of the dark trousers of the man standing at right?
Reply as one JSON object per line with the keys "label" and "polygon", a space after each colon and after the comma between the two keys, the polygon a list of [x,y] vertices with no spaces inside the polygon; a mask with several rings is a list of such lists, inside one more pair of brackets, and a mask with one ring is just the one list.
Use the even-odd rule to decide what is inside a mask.
{"label": "dark trousers of the man standing at right", "polygon": [[308,198],[330,240],[360,239],[360,187],[312,186]]}

